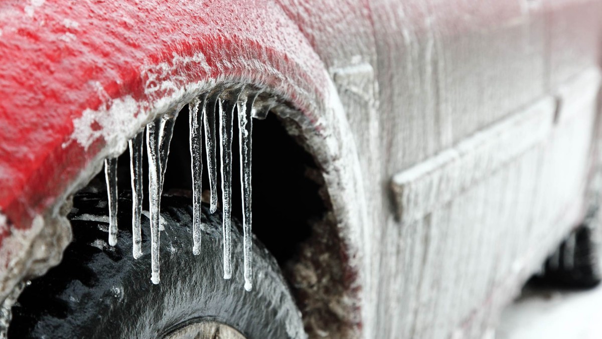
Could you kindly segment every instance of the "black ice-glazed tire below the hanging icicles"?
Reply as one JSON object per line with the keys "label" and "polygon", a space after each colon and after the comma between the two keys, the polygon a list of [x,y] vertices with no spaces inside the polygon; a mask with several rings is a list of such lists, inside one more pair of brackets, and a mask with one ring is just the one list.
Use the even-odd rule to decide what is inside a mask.
{"label": "black ice-glazed tire below the hanging icicles", "polygon": [[202,249],[193,255],[190,199],[164,196],[161,283],[153,285],[148,219],[142,218],[143,257],[134,260],[129,196],[120,197],[116,247],[108,246],[108,223],[90,217],[106,216],[106,201],[102,193],[74,198],[73,242],[59,266],[25,288],[13,306],[9,338],[154,338],[203,319],[247,338],[305,337],[278,265],[258,241],[253,290],[244,290],[238,226],[232,227],[232,279],[225,280],[221,215],[203,211]]}

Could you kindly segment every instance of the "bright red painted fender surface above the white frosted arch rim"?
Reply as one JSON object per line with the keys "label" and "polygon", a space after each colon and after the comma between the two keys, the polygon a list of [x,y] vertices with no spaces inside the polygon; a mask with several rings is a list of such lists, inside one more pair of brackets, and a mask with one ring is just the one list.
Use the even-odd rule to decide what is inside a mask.
{"label": "bright red painted fender surface above the white frosted arch rim", "polygon": [[[202,52],[210,66],[162,75],[178,85],[217,76],[264,81],[307,114],[304,103],[326,86],[297,26],[267,1],[47,1],[31,17],[26,5],[0,7],[0,209],[16,228],[51,207],[105,145],[78,145],[73,119],[126,95],[143,105],[170,95],[146,94],[141,71],[173,55]],[[252,68],[258,64],[264,69]]]}

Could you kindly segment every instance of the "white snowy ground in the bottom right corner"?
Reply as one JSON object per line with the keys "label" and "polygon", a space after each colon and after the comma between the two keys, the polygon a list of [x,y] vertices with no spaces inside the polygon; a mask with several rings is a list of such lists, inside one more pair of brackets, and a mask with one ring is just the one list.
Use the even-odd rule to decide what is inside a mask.
{"label": "white snowy ground in the bottom right corner", "polygon": [[602,338],[602,286],[589,291],[535,290],[502,315],[496,339]]}

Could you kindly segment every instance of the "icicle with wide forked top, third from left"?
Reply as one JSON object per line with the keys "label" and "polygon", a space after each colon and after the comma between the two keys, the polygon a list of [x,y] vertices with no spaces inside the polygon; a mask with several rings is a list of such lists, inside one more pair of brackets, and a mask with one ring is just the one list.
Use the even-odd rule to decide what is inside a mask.
{"label": "icicle with wide forked top, third from left", "polygon": [[166,114],[146,125],[146,152],[149,158],[149,210],[151,213],[151,281],[158,284],[159,245],[160,245],[160,205],[163,190],[163,174],[169,157],[169,144],[172,141],[173,125],[177,110]]}

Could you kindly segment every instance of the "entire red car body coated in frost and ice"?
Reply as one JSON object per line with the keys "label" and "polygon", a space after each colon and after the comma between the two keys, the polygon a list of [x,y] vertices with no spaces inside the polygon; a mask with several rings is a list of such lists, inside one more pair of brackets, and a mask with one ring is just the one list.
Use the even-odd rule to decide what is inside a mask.
{"label": "entire red car body coated in frost and ice", "polygon": [[[588,208],[599,1],[0,5],[0,296],[140,128],[245,84],[301,126],[344,243],[345,335],[476,336]],[[434,325],[433,325],[434,324]]]}

